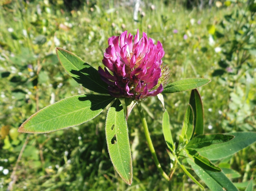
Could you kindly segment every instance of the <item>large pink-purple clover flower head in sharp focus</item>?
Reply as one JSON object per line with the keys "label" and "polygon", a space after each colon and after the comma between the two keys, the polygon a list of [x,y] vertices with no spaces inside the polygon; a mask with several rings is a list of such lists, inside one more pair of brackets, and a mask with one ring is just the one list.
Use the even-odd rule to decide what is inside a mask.
{"label": "large pink-purple clover flower head in sharp focus", "polygon": [[165,54],[162,43],[155,45],[144,32],[140,39],[137,30],[134,39],[125,31],[110,37],[108,45],[102,60],[105,70],[99,67],[98,72],[111,96],[139,100],[163,91],[169,72],[161,60]]}

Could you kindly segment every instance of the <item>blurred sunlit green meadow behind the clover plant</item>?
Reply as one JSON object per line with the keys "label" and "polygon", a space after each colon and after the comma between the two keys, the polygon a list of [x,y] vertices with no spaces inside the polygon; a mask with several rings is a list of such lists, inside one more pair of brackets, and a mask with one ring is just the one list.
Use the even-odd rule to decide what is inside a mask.
{"label": "blurred sunlit green meadow behind the clover plant", "polygon": [[[67,75],[55,47],[75,53],[96,69],[108,37],[137,29],[159,40],[170,82],[186,77],[212,81],[199,88],[204,132],[255,131],[256,4],[249,1],[0,0],[0,190],[165,190],[146,144],[136,109],[127,121],[133,183],[114,171],[105,140],[106,110],[85,124],[48,134],[17,132],[39,109],[62,98],[89,93]],[[179,140],[190,92],[165,94],[172,135]],[[164,109],[144,101],[151,138],[162,167],[170,160],[162,134]],[[217,164],[241,190],[256,174],[255,144]],[[22,156],[19,154],[22,154]],[[17,162],[18,161],[18,162]],[[201,182],[202,183],[202,182]],[[202,183],[203,184],[203,183]],[[200,190],[176,171],[173,190]]]}

